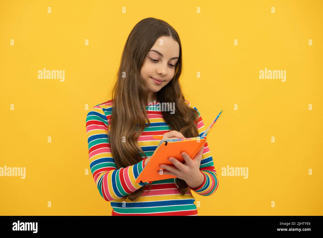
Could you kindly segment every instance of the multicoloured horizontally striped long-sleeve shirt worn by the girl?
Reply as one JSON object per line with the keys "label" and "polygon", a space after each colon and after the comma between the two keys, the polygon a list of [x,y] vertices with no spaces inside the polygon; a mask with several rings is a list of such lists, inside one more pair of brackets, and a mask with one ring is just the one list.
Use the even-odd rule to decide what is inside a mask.
{"label": "multicoloured horizontally striped long-sleeve shirt worn by the girl", "polygon": [[[146,126],[138,138],[138,144],[147,157],[152,155],[161,141],[153,139],[152,136],[163,135],[171,131],[168,124],[163,120],[160,107],[156,107],[157,103],[158,101],[153,103],[152,106],[147,103],[146,110],[148,119],[150,120],[150,126]],[[201,136],[206,130],[201,114],[187,100],[185,100],[185,103],[189,107],[194,108],[199,114],[198,131],[199,136]],[[112,109],[113,101],[106,101],[94,106],[86,118],[91,173],[101,197],[111,202],[112,216],[197,215],[197,208],[194,204],[195,198],[191,190],[202,196],[210,196],[214,194],[219,185],[218,176],[214,169],[213,157],[207,141],[204,144],[203,160],[201,160],[200,164],[200,171],[204,175],[204,181],[200,187],[195,189],[191,188],[182,195],[175,184],[177,181],[176,178],[153,181],[151,191],[149,191],[148,182],[135,183],[136,178],[144,168],[146,160],[141,152],[142,160],[139,163],[117,169],[109,144],[109,121]],[[142,186],[145,186],[145,189],[139,200],[120,199]],[[124,204],[126,205],[124,206]]]}

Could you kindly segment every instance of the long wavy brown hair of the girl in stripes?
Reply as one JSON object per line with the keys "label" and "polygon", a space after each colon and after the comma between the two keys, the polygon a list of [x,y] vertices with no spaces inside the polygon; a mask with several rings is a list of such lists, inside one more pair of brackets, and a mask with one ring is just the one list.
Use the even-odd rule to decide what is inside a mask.
{"label": "long wavy brown hair of the girl in stripes", "polygon": [[[118,169],[139,163],[142,160],[140,152],[147,157],[138,144],[138,138],[146,123],[148,123],[148,126],[150,125],[146,113],[148,89],[141,78],[140,71],[148,52],[161,36],[172,37],[180,46],[174,77],[156,93],[159,102],[175,103],[174,114],[162,111],[163,119],[171,130],[181,132],[186,138],[199,136],[197,130],[198,113],[184,103],[184,96],[179,83],[179,77],[182,74],[180,38],[176,30],[167,22],[152,17],[142,19],[134,26],[128,36],[122,52],[120,67],[116,74],[117,80],[112,89],[114,105],[110,118],[109,143]],[[126,76],[124,77],[124,75]],[[126,143],[122,142],[123,137],[125,137]],[[176,184],[182,194],[190,190],[182,179],[177,179]],[[144,192],[144,187],[122,198],[135,201]],[[150,190],[151,184],[149,184]]]}

